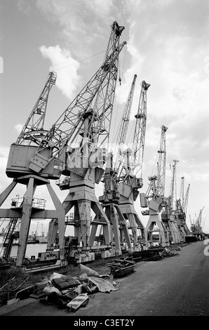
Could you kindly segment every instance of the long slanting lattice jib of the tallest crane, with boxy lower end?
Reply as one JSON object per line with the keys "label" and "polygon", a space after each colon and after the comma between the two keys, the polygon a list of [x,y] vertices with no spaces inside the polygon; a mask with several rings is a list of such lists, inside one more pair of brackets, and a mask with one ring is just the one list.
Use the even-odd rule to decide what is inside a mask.
{"label": "long slanting lattice jib of the tallest crane, with boxy lower end", "polygon": [[[46,136],[44,137],[44,145],[40,143],[37,148],[34,157],[31,158],[31,164],[29,165],[29,169],[36,171],[39,173],[43,169],[50,164],[56,156],[62,152],[62,149],[67,145],[67,143],[72,143],[76,136],[80,133],[77,129],[81,126],[81,122],[89,110],[89,107],[95,98],[95,95],[102,86],[104,79],[114,68],[116,60],[119,58],[119,53],[121,52],[123,46],[127,43],[124,41],[122,44],[117,46],[111,55],[107,56],[107,60],[104,61],[99,70],[97,70],[96,74],[88,81],[88,84],[82,89],[82,91],[77,95],[74,101],[71,103],[67,110],[60,116],[58,121],[53,125],[53,128],[48,131]],[[79,114],[80,110],[80,114]],[[72,116],[74,121],[71,121],[69,117]],[[102,113],[97,117],[98,119],[102,118]],[[69,125],[71,121],[71,125]],[[67,127],[65,131],[63,128],[68,124],[70,127]],[[48,139],[50,137],[50,139]],[[50,147],[50,157],[43,156],[44,150]]]}

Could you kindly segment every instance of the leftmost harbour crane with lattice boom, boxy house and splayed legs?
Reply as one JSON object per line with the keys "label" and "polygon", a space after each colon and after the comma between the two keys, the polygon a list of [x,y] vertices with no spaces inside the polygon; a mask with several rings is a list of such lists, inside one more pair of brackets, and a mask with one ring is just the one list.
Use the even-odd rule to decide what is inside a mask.
{"label": "leftmost harbour crane with lattice boom, boxy house and splayed legs", "polygon": [[[29,225],[31,218],[58,218],[57,215],[50,216],[46,214],[46,210],[36,209],[32,207],[32,198],[36,190],[36,186],[50,185],[48,177],[51,177],[55,163],[50,166],[50,170],[43,173],[43,176],[35,176],[34,171],[29,169],[30,157],[34,154],[34,150],[39,145],[41,140],[45,137],[46,131],[43,128],[46,107],[48,105],[48,96],[53,85],[55,85],[57,75],[55,72],[50,72],[49,77],[44,85],[38,100],[36,101],[32,112],[20,132],[15,143],[11,145],[11,149],[8,155],[8,161],[6,165],[6,175],[8,178],[13,178],[13,182],[6,187],[6,190],[0,194],[0,206],[7,199],[9,194],[13,191],[15,186],[20,183],[27,187],[22,203],[19,204],[17,199],[12,200],[11,209],[0,209],[0,218],[10,218],[11,225],[6,233],[6,240],[4,242],[5,255],[9,255],[11,237],[13,237],[13,230],[15,230],[15,224],[20,222],[20,244],[18,246],[17,265],[21,266],[25,258],[25,251],[27,246],[27,237],[29,234]],[[56,164],[57,165],[57,164]],[[55,166],[56,167],[56,166]],[[55,177],[58,178],[58,169],[55,169]],[[51,188],[49,188],[51,190]],[[19,196],[19,194],[18,194]],[[42,211],[42,212],[41,212]],[[38,214],[37,214],[38,213]],[[43,214],[44,213],[44,214]],[[8,251],[6,249],[8,248]]]}

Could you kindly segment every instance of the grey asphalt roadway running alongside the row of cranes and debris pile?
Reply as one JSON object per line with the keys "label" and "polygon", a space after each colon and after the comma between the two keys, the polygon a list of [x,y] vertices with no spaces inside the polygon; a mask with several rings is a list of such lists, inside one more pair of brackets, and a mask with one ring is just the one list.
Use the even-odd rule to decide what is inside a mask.
{"label": "grey asphalt roadway running alongside the row of cranes and debris pile", "polygon": [[86,307],[76,312],[29,298],[1,307],[0,316],[81,319],[102,316],[118,317],[119,322],[121,317],[130,320],[138,316],[209,316],[209,244],[206,243],[201,241],[184,246],[181,251],[175,251],[179,256],[137,263],[130,275],[114,279],[119,290],[95,293]]}

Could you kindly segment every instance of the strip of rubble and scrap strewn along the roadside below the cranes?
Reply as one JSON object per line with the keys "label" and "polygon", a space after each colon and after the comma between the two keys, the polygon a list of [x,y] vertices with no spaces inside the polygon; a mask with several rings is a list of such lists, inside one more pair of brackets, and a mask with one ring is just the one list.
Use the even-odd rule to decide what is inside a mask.
{"label": "strip of rubble and scrap strewn along the roadside below the cranes", "polygon": [[[180,251],[177,246],[176,251]],[[25,298],[38,298],[40,302],[48,304],[58,304],[66,307],[69,311],[75,312],[75,306],[83,307],[94,298],[95,293],[111,293],[119,290],[116,288],[119,282],[114,282],[114,277],[123,277],[135,270],[137,261],[142,260],[162,260],[171,256],[179,256],[179,253],[170,251],[168,247],[155,246],[152,249],[135,251],[126,258],[116,258],[106,264],[110,268],[109,274],[100,275],[95,270],[86,265],[76,266],[76,272],[72,275],[62,275],[53,272],[42,278],[42,282],[32,284],[15,294],[15,299],[8,303],[23,300]],[[69,272],[71,272],[69,270]],[[87,297],[87,298],[86,298]],[[72,302],[72,304],[70,304]]]}

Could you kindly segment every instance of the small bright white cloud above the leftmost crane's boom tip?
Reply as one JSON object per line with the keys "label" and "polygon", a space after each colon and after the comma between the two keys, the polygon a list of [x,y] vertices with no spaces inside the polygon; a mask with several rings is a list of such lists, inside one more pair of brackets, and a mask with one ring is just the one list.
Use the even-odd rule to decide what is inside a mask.
{"label": "small bright white cloud above the leftmost crane's boom tip", "polygon": [[[51,62],[50,71],[58,70],[56,86],[62,91],[63,95],[72,99],[76,91],[76,87],[81,82],[78,74],[79,62],[76,62],[70,51],[61,49],[57,46],[41,46],[40,48],[43,58],[48,58]],[[62,69],[62,70],[61,70]]]}

